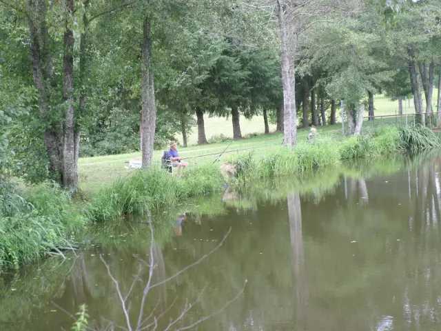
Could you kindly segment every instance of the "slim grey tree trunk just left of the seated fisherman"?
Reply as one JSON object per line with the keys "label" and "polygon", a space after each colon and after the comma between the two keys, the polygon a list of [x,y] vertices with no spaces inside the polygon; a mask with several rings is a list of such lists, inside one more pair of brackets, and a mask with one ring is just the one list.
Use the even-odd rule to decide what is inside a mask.
{"label": "slim grey tree trunk just left of the seated fisherman", "polygon": [[152,165],[153,157],[156,103],[152,71],[152,20],[148,14],[145,15],[143,21],[141,55],[142,167],[149,168]]}

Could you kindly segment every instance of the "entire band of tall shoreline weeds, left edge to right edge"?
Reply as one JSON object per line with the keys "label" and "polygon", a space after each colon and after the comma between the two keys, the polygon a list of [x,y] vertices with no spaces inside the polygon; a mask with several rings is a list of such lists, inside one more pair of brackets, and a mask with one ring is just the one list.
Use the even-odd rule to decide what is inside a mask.
{"label": "entire band of tall shoreline weeds, left edge to right edge", "polygon": [[252,152],[239,154],[224,163],[229,165],[229,173],[219,164],[189,168],[181,178],[172,178],[159,168],[139,170],[96,192],[81,208],[68,192],[50,183],[23,192],[23,196],[6,185],[0,187],[0,272],[31,263],[45,252],[62,255],[64,248],[70,248],[74,234],[90,223],[172,208],[188,198],[220,194],[225,182],[236,188],[256,183],[262,188],[266,178],[300,177],[323,169],[338,172],[336,165],[345,161],[378,159],[440,146],[440,138],[427,128],[384,126],[349,139],[298,143],[294,149],[280,146],[260,157],[254,157]]}

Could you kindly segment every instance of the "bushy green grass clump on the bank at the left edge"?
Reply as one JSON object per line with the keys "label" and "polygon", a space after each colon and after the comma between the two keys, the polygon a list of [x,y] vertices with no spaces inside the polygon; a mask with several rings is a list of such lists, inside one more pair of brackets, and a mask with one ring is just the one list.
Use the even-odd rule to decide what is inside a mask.
{"label": "bushy green grass clump on the bank at the left edge", "polygon": [[59,254],[59,247],[69,247],[70,236],[85,225],[82,214],[72,210],[68,192],[57,185],[39,185],[25,197],[17,192],[0,196],[0,270],[19,268],[43,252]]}

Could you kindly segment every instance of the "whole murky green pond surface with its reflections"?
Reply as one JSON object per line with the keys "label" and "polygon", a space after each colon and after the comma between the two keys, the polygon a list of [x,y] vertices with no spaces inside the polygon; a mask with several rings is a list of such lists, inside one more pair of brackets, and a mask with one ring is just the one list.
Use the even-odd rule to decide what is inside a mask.
{"label": "whole murky green pond surface with its reflections", "polygon": [[153,245],[148,217],[97,226],[0,281],[0,330],[70,330],[83,303],[94,330],[440,330],[440,164],[203,197],[154,216]]}

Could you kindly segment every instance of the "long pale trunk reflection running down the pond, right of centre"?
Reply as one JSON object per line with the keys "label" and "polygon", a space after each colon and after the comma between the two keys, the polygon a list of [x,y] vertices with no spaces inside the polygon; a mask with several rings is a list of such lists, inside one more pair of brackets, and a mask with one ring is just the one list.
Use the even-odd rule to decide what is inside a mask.
{"label": "long pale trunk reflection running down the pond, right of centre", "polygon": [[291,267],[294,277],[294,323],[296,330],[307,330],[306,306],[307,283],[305,279],[305,265],[303,261],[302,241],[302,210],[298,193],[289,194],[288,198],[289,228],[291,234]]}

